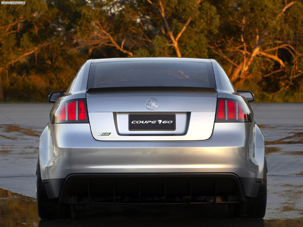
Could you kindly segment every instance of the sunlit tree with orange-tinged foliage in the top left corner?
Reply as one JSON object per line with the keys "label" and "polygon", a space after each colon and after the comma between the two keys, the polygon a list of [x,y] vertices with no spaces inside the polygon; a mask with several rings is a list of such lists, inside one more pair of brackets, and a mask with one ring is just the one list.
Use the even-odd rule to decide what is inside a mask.
{"label": "sunlit tree with orange-tinged foliage in the top left corner", "polygon": [[26,56],[47,43],[38,38],[45,4],[30,1],[26,5],[2,5],[0,8],[0,101],[4,100],[2,75]]}

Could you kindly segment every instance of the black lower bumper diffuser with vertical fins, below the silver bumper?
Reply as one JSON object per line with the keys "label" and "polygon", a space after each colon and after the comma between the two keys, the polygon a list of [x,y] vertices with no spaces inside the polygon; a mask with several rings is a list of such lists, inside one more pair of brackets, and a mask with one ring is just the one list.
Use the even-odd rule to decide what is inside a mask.
{"label": "black lower bumper diffuser with vertical fins, below the silver bumper", "polygon": [[73,174],[42,182],[49,198],[76,204],[237,203],[255,197],[260,185],[226,173]]}

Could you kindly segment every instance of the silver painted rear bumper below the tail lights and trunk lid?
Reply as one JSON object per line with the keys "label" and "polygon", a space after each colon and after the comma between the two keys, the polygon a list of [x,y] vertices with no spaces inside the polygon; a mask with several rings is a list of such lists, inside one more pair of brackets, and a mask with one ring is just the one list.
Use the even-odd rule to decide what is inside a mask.
{"label": "silver painted rear bumper below the tail lights and trunk lid", "polygon": [[206,141],[96,141],[88,124],[47,126],[39,146],[42,182],[49,198],[58,198],[66,179],[75,175],[230,174],[245,196],[255,197],[264,171],[262,133],[257,125],[227,124],[215,124]]}

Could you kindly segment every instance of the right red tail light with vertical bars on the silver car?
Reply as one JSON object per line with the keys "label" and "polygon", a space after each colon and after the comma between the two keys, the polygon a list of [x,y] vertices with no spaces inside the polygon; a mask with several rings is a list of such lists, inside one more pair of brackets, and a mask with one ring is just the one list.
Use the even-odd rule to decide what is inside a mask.
{"label": "right red tail light with vertical bars on the silver car", "polygon": [[216,122],[251,122],[251,112],[246,104],[226,98],[218,101]]}

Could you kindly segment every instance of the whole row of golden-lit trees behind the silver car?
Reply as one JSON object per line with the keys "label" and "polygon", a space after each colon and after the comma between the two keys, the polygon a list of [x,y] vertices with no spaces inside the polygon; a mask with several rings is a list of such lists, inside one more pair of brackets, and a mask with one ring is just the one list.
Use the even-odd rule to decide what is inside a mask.
{"label": "whole row of golden-lit trees behind the silver car", "polygon": [[303,101],[303,0],[30,0],[0,6],[0,101],[45,101],[87,59],[212,58],[257,101]]}

